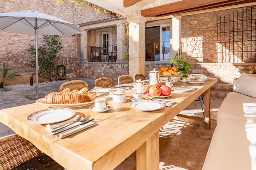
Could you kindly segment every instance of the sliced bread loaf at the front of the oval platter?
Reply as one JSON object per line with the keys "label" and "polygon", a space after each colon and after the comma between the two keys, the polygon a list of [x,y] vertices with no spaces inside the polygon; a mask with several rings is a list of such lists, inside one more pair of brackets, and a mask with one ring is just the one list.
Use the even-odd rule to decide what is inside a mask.
{"label": "sliced bread loaf at the front of the oval platter", "polygon": [[44,97],[47,104],[76,104],[90,102],[90,97],[72,92],[53,92]]}

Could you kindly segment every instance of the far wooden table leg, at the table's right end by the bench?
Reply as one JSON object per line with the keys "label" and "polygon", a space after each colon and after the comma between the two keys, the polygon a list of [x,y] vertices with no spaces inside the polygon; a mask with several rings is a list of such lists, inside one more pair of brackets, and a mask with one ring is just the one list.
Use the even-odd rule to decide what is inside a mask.
{"label": "far wooden table leg, at the table's right end by the bench", "polygon": [[204,128],[211,129],[211,90],[210,88],[204,92]]}

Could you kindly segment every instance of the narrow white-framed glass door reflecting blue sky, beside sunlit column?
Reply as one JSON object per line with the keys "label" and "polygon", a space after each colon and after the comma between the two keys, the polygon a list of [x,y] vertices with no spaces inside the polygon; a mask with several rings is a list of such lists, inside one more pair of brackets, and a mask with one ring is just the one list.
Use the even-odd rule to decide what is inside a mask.
{"label": "narrow white-framed glass door reflecting blue sky, beside sunlit column", "polygon": [[170,60],[170,25],[160,25],[160,61]]}

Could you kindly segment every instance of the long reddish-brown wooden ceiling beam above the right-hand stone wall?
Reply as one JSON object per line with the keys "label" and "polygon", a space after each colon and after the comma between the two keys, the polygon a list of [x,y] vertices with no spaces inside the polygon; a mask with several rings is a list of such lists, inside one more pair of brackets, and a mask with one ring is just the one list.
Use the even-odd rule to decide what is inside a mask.
{"label": "long reddish-brown wooden ceiling beam above the right-hand stone wall", "polygon": [[142,10],[141,15],[144,17],[159,17],[250,2],[256,2],[256,0],[183,0],[176,3]]}

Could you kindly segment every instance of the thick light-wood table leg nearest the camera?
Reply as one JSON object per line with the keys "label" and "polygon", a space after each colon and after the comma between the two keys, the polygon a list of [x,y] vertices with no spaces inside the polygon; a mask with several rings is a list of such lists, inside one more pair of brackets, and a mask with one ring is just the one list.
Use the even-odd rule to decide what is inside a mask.
{"label": "thick light-wood table leg nearest the camera", "polygon": [[155,133],[136,151],[137,170],[159,170],[159,133]]}

